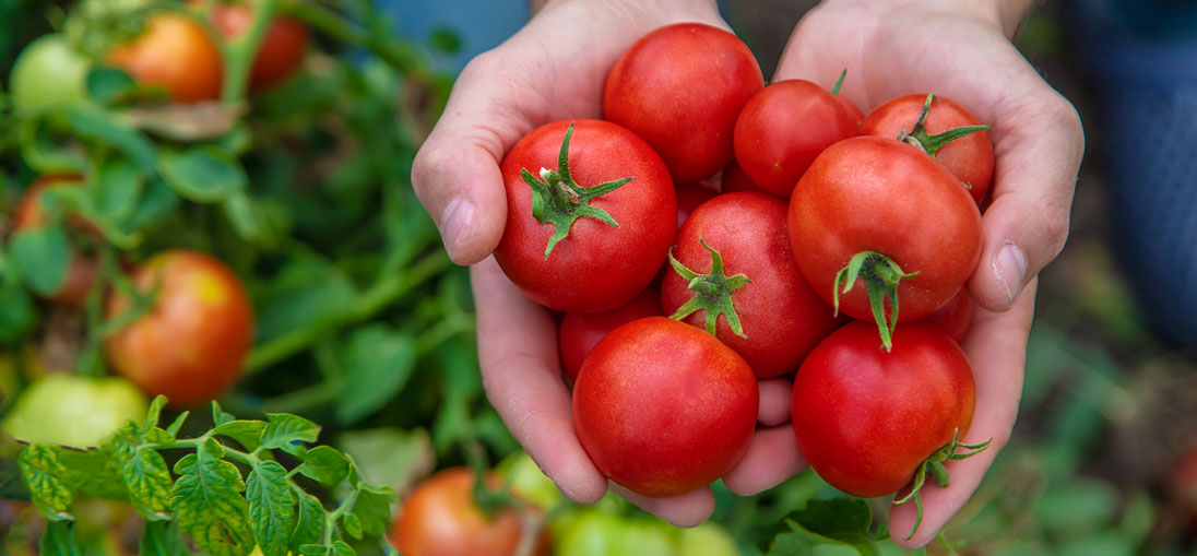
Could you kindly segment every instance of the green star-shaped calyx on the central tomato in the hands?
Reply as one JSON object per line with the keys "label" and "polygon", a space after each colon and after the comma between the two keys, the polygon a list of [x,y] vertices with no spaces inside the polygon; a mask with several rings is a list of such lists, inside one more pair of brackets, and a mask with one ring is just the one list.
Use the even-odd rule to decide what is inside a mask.
{"label": "green star-shaped calyx on the central tomato in the hands", "polygon": [[699,274],[687,268],[686,265],[682,265],[681,261],[673,256],[673,248],[669,248],[669,266],[673,266],[674,271],[686,279],[689,283],[689,289],[694,291],[694,296],[679,307],[669,318],[680,321],[701,309],[706,312],[705,330],[711,336],[717,336],[715,333],[716,324],[719,315],[724,315],[728,319],[728,326],[731,327],[731,332],[741,338],[748,338],[745,336],[740,315],[736,314],[735,303],[731,302],[731,294],[751,284],[752,280],[742,272],[735,276],[727,276],[723,272],[723,256],[719,255],[719,252],[707,246],[703,241],[703,236],[698,236],[698,243],[711,253],[711,272],[706,274]]}

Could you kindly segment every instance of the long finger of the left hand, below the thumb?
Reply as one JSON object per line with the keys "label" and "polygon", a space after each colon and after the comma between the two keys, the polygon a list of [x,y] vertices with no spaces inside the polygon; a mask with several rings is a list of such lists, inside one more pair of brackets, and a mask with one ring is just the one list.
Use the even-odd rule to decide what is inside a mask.
{"label": "long finger of the left hand, below the thumb", "polygon": [[561,492],[581,503],[597,502],[607,479],[573,431],[552,315],[524,297],[493,258],[470,268],[470,284],[478,300],[478,357],[491,405]]}

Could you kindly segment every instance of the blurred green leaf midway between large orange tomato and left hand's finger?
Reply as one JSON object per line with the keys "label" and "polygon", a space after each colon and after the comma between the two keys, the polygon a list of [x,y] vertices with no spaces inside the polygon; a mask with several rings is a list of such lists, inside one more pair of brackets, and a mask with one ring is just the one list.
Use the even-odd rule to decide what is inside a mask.
{"label": "blurred green leaf midway between large orange tomato and left hand's finger", "polygon": [[336,419],[352,424],[387,405],[415,365],[415,340],[384,325],[357,330],[345,349]]}

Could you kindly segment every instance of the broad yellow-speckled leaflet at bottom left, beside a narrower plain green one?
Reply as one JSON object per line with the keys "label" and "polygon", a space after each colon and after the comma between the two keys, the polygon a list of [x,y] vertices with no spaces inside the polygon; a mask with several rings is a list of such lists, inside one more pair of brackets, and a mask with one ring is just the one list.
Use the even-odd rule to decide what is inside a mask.
{"label": "broad yellow-speckled leaflet at bottom left, beside a narrower plain green one", "polygon": [[245,483],[237,466],[219,459],[215,440],[198,447],[175,464],[171,506],[178,528],[201,549],[217,556],[244,556],[254,548],[248,503],[241,497]]}

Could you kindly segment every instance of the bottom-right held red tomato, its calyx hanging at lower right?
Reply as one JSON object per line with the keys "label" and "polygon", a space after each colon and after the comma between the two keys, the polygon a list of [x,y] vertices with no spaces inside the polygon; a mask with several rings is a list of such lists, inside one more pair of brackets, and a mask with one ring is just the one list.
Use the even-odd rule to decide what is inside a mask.
{"label": "bottom-right held red tomato, its calyx hanging at lower right", "polygon": [[853,321],[810,352],[794,379],[798,451],[819,477],[861,497],[898,491],[918,465],[972,424],[968,359],[926,322],[899,325],[893,351]]}

